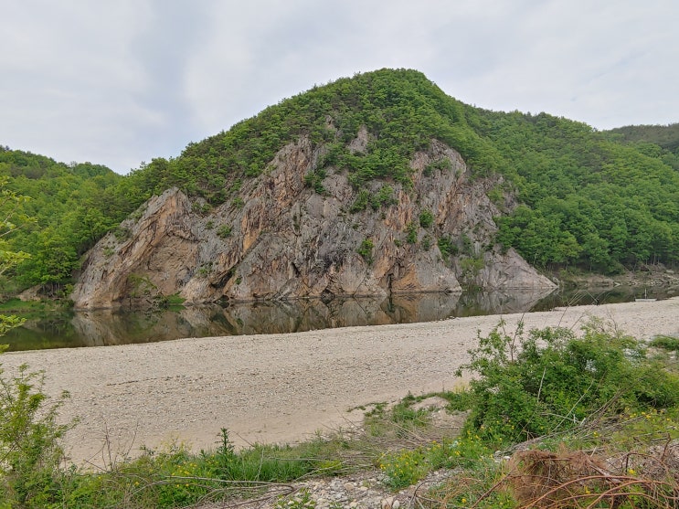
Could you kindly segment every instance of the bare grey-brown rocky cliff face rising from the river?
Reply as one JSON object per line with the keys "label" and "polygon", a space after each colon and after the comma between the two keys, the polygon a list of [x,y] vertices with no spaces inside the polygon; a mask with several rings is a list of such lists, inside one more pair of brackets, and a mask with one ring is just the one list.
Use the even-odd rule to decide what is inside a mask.
{"label": "bare grey-brown rocky cliff face rising from the river", "polygon": [[[362,131],[350,148],[365,144]],[[499,211],[487,192],[496,183],[470,180],[451,148],[432,142],[415,154],[411,187],[366,185],[364,197],[385,199],[363,208],[345,173],[321,175],[323,194],[305,184],[323,155],[305,138],[289,144],[237,197],[207,211],[177,189],[155,196],[90,251],[75,306],[175,293],[202,303],[456,292],[461,282],[554,286],[512,249],[492,246]]]}

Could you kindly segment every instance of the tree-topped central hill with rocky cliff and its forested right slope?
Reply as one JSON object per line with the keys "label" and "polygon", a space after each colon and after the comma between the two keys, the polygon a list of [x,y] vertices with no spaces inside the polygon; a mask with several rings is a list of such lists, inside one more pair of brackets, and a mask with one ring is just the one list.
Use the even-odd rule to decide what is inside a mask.
{"label": "tree-topped central hill with rocky cliff and its forested right slope", "polygon": [[163,197],[93,251],[78,306],[544,287],[516,251],[609,272],[679,252],[660,156],[410,70],[316,87],[130,179]]}

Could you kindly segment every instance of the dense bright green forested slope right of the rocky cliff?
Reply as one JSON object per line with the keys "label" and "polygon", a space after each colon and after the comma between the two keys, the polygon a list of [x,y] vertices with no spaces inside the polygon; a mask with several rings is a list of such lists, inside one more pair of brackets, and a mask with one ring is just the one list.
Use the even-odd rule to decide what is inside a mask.
{"label": "dense bright green forested slope right of the rocky cliff", "polygon": [[545,113],[478,111],[474,125],[504,154],[522,204],[498,219],[498,239],[529,262],[614,272],[679,261],[674,154]]}

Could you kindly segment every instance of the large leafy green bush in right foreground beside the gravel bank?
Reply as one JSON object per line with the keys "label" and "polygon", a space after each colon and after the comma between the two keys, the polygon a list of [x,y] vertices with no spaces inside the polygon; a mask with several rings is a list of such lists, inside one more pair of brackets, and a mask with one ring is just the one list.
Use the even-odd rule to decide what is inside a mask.
{"label": "large leafy green bush in right foreground beside the gravel bank", "polygon": [[568,329],[513,334],[504,322],[470,350],[458,370],[478,375],[470,382],[468,429],[499,444],[573,429],[606,408],[671,408],[679,404],[679,377],[648,359],[645,345],[589,323],[578,336]]}

